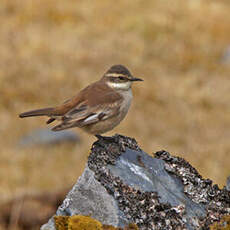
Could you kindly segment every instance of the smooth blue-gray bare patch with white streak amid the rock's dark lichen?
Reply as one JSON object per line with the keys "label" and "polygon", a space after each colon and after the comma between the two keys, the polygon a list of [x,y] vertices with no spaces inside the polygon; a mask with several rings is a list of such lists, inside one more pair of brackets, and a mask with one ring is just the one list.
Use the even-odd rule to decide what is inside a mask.
{"label": "smooth blue-gray bare patch with white streak amid the rock's dark lichen", "polygon": [[186,196],[181,180],[165,170],[165,162],[161,159],[127,148],[116,165],[109,165],[108,168],[113,176],[122,178],[126,185],[142,192],[156,192],[160,203],[169,203],[172,207],[184,206],[189,229],[193,229],[190,225],[198,221],[197,217],[206,215],[205,206]]}

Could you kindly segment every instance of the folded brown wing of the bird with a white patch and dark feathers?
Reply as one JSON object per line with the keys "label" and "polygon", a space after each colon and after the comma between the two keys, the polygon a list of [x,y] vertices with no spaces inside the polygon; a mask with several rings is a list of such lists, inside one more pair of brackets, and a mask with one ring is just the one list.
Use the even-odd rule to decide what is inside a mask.
{"label": "folded brown wing of the bird with a white patch and dark feathers", "polygon": [[[78,103],[62,116],[62,123],[55,126],[54,131],[70,127],[83,127],[116,116],[123,100],[120,94],[108,89],[104,84],[91,85],[85,89],[82,95],[81,100],[78,100]],[[97,97],[95,98],[93,95],[97,95]]]}

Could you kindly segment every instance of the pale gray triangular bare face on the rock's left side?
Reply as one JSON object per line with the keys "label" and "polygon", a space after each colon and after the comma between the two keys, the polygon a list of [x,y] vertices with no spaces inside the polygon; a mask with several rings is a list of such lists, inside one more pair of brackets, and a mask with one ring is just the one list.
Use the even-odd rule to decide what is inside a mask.
{"label": "pale gray triangular bare face on the rock's left side", "polygon": [[[124,224],[125,221],[123,221],[123,217],[121,218],[116,201],[94,179],[94,175],[95,173],[86,166],[84,173],[66,196],[56,214],[62,216],[90,215],[104,224],[114,226],[117,226],[119,222]],[[55,229],[53,218],[41,229]]]}

